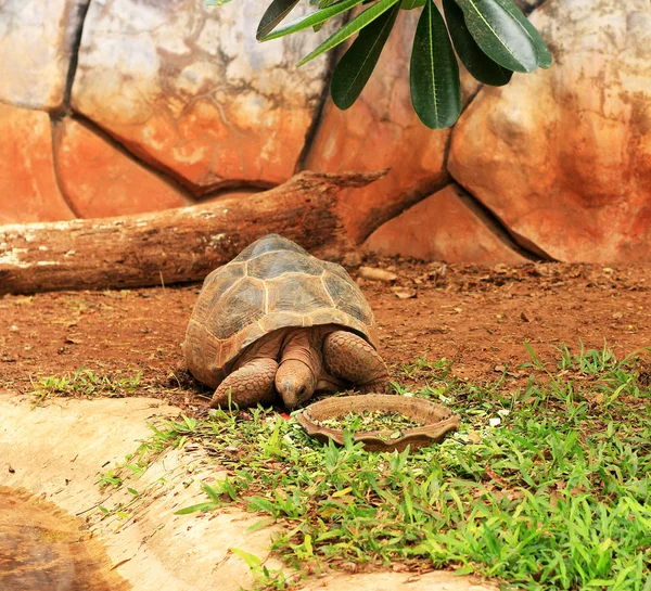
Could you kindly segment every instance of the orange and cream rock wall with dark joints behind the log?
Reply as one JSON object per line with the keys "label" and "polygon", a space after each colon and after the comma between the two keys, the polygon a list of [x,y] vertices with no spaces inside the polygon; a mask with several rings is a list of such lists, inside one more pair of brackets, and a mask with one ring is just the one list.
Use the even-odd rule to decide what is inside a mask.
{"label": "orange and cream rock wall with dark joints behind the log", "polygon": [[[0,223],[246,194],[309,168],[391,167],[342,195],[368,252],[518,264],[651,260],[649,0],[520,0],[549,70],[462,76],[449,130],[416,118],[403,12],[360,100],[327,98],[328,30],[258,44],[263,4],[0,0]],[[305,10],[305,9],[299,9]]]}

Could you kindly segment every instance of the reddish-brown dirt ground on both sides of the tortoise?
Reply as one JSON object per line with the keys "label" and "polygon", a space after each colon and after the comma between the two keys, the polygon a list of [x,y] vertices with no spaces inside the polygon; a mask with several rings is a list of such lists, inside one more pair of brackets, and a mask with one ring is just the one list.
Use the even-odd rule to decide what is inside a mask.
{"label": "reddish-brown dirt ground on both sides of the tortoise", "polygon": [[[554,345],[577,349],[579,339],[600,348],[605,338],[618,357],[651,346],[651,268],[366,264],[398,275],[394,283],[358,280],[394,370],[426,355],[454,359],[459,376],[494,380],[501,367],[529,360],[525,341],[544,361],[558,357]],[[29,393],[43,376],[80,368],[141,372],[136,394],[201,408],[179,346],[197,294],[191,285],[4,296],[0,390]]]}

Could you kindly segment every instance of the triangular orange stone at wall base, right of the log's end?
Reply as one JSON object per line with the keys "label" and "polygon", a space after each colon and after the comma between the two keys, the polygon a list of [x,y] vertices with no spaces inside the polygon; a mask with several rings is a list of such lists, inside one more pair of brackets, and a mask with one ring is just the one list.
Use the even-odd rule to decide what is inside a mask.
{"label": "triangular orange stone at wall base, right of the log's end", "polygon": [[446,262],[522,265],[503,231],[456,184],[426,197],[375,230],[363,245],[381,256]]}

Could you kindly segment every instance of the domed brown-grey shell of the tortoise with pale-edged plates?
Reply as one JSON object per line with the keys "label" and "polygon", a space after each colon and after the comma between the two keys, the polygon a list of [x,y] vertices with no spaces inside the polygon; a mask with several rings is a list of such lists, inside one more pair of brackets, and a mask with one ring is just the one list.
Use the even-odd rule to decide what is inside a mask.
{"label": "domed brown-grey shell of the tortoise with pale-edged plates", "polygon": [[186,362],[216,388],[261,336],[321,324],[346,326],[378,347],[373,312],[346,270],[268,234],[206,277],[182,346]]}

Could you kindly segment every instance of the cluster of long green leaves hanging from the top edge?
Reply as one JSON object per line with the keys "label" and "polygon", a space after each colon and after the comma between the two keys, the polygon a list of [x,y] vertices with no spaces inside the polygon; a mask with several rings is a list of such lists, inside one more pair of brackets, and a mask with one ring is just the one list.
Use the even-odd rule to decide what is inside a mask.
{"label": "cluster of long green leaves hanging from the top edge", "polygon": [[[208,5],[221,3],[206,0]],[[331,81],[334,104],[349,108],[359,98],[401,10],[422,9],[409,68],[411,103],[420,120],[444,129],[461,114],[457,56],[480,82],[503,86],[514,72],[551,65],[551,53],[536,28],[512,0],[310,0],[317,9],[283,24],[298,0],[272,0],[257,27],[259,41],[305,29],[319,30],[337,16],[339,28],[298,65],[356,39],[339,60]],[[363,10],[360,9],[363,7]],[[342,24],[343,22],[343,24]]]}

